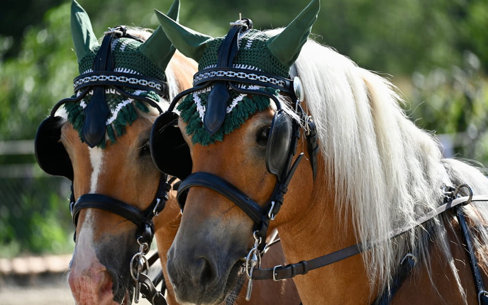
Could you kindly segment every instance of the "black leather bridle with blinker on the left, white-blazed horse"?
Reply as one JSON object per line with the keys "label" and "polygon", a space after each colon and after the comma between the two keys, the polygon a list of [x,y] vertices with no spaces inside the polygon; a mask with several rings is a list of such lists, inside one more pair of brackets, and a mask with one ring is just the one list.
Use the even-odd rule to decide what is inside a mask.
{"label": "black leather bridle with blinker on the left, white-blazed horse", "polygon": [[[93,148],[99,145],[105,137],[105,122],[110,114],[105,100],[105,89],[107,86],[110,86],[123,96],[147,102],[156,108],[160,114],[163,112],[155,100],[145,96],[134,95],[123,90],[122,87],[155,91],[163,97],[168,97],[167,84],[163,81],[136,74],[113,71],[114,62],[111,43],[114,38],[121,37],[128,37],[140,41],[138,37],[127,34],[123,26],[118,26],[105,32],[100,49],[93,62],[93,72],[82,74],[74,79],[74,91],[80,91],[80,94],[76,97],[62,99],[56,103],[50,116],[41,122],[37,129],[34,140],[35,156],[37,163],[46,173],[63,176],[71,180],[69,207],[75,227],[77,226],[80,211],[89,208],[118,214],[137,226],[135,237],[139,244],[139,252],[134,254],[130,262],[130,273],[135,286],[135,303],[138,303],[139,293],[142,292],[143,296],[152,302],[152,304],[166,305],[163,294],[155,289],[155,285],[164,279],[162,272],[157,274],[153,281],[147,275],[149,266],[157,259],[157,252],[149,259],[145,255],[149,252],[154,235],[152,218],[164,209],[168,200],[167,193],[171,189],[171,183],[176,178],[169,178],[167,174],[162,173],[154,199],[144,211],[102,194],[84,194],[75,201],[73,192],[73,167],[69,155],[60,141],[63,119],[55,115],[56,111],[65,103],[79,102],[89,91],[92,91],[91,101],[84,110],[85,121],[82,129],[82,137]],[[74,240],[76,241],[76,231]]]}

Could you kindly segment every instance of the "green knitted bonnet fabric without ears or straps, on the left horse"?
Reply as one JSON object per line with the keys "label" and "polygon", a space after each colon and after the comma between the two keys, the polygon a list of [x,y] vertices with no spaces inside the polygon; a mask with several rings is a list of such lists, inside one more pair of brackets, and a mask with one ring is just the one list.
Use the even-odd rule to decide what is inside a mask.
{"label": "green knitted bonnet fabric without ears or straps, on the left horse", "polygon": [[[139,52],[139,46],[142,43],[130,38],[114,38],[112,41],[112,56],[114,59],[114,71],[124,72],[128,74],[151,77],[158,80],[165,81],[166,76],[164,71],[157,67],[146,56]],[[92,72],[92,64],[99,47],[96,47],[93,52],[88,53],[79,62],[80,75]],[[156,102],[160,101],[160,96],[154,91],[135,90],[131,88],[122,88],[128,93],[148,97]],[[79,94],[80,92],[75,92]],[[90,103],[92,92],[89,92],[80,102],[66,103],[64,109],[68,114],[68,121],[73,125],[73,128],[78,131],[81,141],[83,137],[81,131],[83,122],[85,120],[85,113],[83,109]],[[75,94],[75,96],[76,96]],[[136,109],[148,113],[149,108],[140,100],[135,100],[121,95],[112,88],[107,87],[105,90],[105,100],[111,111],[106,122],[106,135],[110,143],[116,143],[117,137],[121,137],[125,133],[125,127],[132,125],[138,115]],[[105,141],[101,141],[98,147],[105,148]]]}

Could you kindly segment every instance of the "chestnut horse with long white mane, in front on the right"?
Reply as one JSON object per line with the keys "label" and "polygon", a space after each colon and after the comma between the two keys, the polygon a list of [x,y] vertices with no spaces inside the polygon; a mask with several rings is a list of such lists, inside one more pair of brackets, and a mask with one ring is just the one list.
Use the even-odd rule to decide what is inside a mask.
{"label": "chestnut horse with long white mane, in front on the right", "polygon": [[[160,117],[180,111],[193,162],[168,252],[176,299],[216,304],[244,265],[248,289],[297,275],[305,305],[487,304],[488,210],[472,197],[487,201],[483,169],[443,158],[389,80],[309,39],[319,8],[271,31],[243,18],[217,38],[157,13],[199,62]],[[293,264],[262,269],[272,228]]]}

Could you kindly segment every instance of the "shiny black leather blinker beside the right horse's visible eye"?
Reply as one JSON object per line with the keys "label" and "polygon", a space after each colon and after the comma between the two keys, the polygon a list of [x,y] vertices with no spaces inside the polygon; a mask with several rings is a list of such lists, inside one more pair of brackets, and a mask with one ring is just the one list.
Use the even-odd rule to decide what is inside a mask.
{"label": "shiny black leather blinker beside the right horse's visible eye", "polygon": [[282,109],[276,111],[271,122],[270,135],[266,146],[266,168],[281,179],[288,159],[293,122]]}

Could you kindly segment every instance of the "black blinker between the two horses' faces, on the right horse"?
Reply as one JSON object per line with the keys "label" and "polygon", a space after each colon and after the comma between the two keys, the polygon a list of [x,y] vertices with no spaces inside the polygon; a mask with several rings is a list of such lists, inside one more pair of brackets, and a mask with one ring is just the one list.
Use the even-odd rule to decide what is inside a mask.
{"label": "black blinker between the two horses' faces, on the right horse", "polygon": [[149,147],[152,161],[161,172],[183,180],[191,174],[192,161],[178,119],[174,112],[160,115],[152,125]]}

